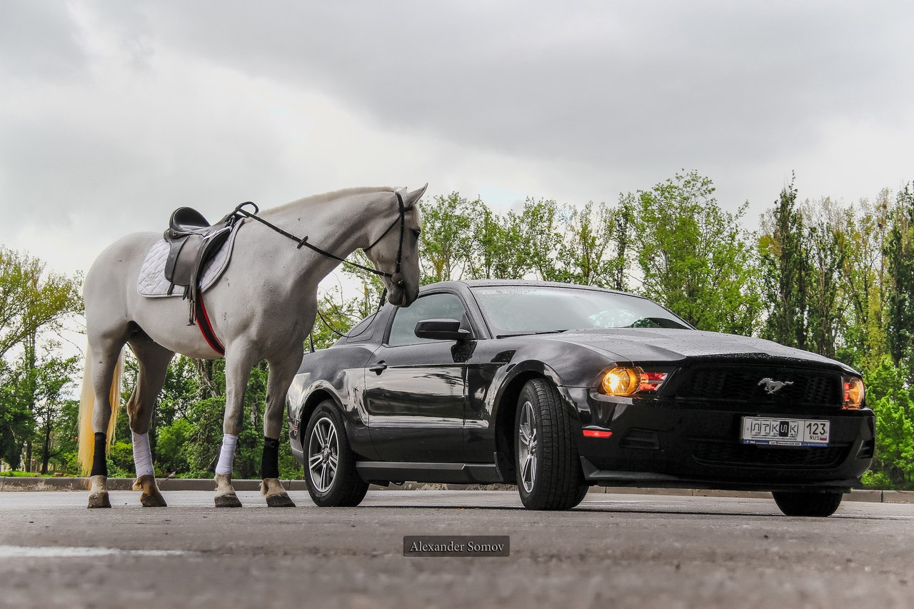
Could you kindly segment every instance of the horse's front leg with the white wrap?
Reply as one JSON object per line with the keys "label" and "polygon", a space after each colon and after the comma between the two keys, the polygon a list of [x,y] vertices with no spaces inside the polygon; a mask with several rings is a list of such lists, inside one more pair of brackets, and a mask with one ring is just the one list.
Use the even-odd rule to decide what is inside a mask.
{"label": "horse's front leg with the white wrap", "polygon": [[[234,348],[233,348],[234,347]],[[222,422],[222,449],[216,464],[216,507],[240,508],[241,502],[231,486],[235,448],[244,414],[244,390],[255,363],[252,349],[231,346],[226,351],[226,413]]]}

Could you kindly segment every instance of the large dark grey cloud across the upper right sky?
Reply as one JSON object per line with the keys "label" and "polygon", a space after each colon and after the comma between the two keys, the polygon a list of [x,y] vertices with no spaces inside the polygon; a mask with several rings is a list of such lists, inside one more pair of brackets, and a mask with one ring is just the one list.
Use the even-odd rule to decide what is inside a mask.
{"label": "large dark grey cloud across the upper right sky", "polygon": [[[894,5],[903,6],[903,5]],[[729,2],[145,5],[156,39],[326,91],[378,123],[509,155],[612,166],[810,145],[908,108],[910,12]],[[887,89],[886,89],[887,87]]]}

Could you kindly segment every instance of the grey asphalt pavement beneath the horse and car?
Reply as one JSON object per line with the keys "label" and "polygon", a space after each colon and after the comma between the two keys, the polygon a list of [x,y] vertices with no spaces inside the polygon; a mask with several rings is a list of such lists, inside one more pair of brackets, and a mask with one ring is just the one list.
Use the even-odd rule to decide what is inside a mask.
{"label": "grey asphalt pavement beneath the horse and car", "polygon": [[[914,505],[787,518],[754,498],[589,495],[529,512],[515,493],[370,492],[359,508],[266,508],[204,492],[85,509],[0,495],[10,607],[910,607]],[[507,535],[506,558],[409,558],[405,535]]]}

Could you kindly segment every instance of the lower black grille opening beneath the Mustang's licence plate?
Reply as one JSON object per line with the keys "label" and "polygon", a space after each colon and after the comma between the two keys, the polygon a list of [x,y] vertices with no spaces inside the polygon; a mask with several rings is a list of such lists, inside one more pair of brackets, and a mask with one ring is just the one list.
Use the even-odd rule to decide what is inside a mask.
{"label": "lower black grille opening beneath the Mustang's licence plate", "polygon": [[696,442],[696,461],[715,465],[773,465],[783,467],[834,467],[845,457],[845,446],[786,447],[732,442]]}

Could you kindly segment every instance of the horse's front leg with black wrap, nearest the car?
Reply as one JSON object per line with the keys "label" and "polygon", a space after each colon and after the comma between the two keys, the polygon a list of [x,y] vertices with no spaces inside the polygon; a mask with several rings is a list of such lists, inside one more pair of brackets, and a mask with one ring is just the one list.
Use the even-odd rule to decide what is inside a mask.
{"label": "horse's front leg with black wrap, nearest the car", "polygon": [[267,497],[271,508],[294,508],[285,488],[280,484],[280,433],[282,414],[289,385],[302,363],[302,349],[293,350],[285,358],[270,362],[267,379],[267,410],[263,415],[263,456],[260,459],[260,493]]}

